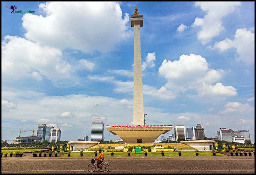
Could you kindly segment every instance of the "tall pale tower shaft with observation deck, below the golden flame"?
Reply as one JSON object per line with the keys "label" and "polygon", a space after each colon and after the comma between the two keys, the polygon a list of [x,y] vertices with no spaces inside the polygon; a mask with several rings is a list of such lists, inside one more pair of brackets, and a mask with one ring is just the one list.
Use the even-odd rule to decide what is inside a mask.
{"label": "tall pale tower shaft with observation deck, below the golden flame", "polygon": [[131,27],[134,27],[133,46],[133,125],[145,125],[143,107],[142,66],[140,50],[140,27],[142,15],[131,15]]}

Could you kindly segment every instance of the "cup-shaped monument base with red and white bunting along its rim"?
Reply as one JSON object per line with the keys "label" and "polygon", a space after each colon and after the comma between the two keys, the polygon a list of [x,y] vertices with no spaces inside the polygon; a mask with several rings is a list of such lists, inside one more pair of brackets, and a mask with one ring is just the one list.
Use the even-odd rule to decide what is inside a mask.
{"label": "cup-shaped monument base with red and white bunting along its rim", "polygon": [[154,143],[161,135],[172,130],[172,125],[126,125],[126,126],[110,126],[106,129],[123,139],[125,143]]}

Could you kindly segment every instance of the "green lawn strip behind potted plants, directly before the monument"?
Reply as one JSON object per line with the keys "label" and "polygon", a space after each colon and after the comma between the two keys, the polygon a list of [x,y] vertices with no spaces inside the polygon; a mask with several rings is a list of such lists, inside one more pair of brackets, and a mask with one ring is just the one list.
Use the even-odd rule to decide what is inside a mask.
{"label": "green lawn strip behind potted plants, directly before the monument", "polygon": [[[104,156],[111,156],[111,152],[103,152]],[[99,155],[99,153],[97,154]],[[165,156],[178,156],[178,152],[165,152]],[[67,154],[61,156],[68,156]],[[72,152],[70,154],[71,157],[80,156],[80,152]],[[83,156],[94,157],[94,152],[84,152]],[[114,152],[114,157],[118,156],[127,156],[126,152]],[[135,154],[135,152],[131,152],[131,156],[144,156],[144,153]],[[147,156],[161,156],[161,152],[148,152]],[[181,156],[196,156],[195,152],[182,152]],[[212,152],[199,152],[199,156],[213,156]],[[227,156],[222,153],[216,153],[216,156]]]}

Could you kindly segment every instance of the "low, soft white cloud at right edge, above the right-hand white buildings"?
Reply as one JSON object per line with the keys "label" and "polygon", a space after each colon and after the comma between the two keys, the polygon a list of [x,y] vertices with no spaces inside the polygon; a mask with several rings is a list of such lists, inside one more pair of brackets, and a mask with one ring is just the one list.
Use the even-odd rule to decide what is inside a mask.
{"label": "low, soft white cloud at right edge, above the right-hand white buildings", "polygon": [[225,105],[225,109],[219,113],[251,113],[254,112],[254,107],[251,107],[248,103],[241,104],[239,102],[228,102]]}

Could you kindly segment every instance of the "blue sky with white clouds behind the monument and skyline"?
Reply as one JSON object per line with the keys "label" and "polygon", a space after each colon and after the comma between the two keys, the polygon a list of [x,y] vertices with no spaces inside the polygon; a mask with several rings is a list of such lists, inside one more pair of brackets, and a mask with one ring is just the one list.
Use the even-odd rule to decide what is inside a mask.
{"label": "blue sky with white clouds behind the monument and skyline", "polygon": [[61,140],[90,136],[95,117],[132,123],[135,5],[146,124],[248,129],[254,142],[254,2],[2,2],[2,140],[39,123],[64,125]]}

